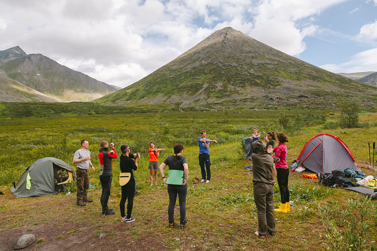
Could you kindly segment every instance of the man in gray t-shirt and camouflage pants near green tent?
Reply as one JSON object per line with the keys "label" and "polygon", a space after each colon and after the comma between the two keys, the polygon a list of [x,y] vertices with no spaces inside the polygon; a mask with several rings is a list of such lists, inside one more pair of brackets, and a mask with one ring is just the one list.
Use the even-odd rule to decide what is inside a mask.
{"label": "man in gray t-shirt and camouflage pants near green tent", "polygon": [[75,152],[73,157],[73,163],[77,164],[77,202],[78,206],[85,206],[84,202],[92,202],[92,199],[88,198],[89,190],[89,166],[92,167],[94,172],[94,166],[90,162],[89,142],[87,140],[81,140],[81,149]]}

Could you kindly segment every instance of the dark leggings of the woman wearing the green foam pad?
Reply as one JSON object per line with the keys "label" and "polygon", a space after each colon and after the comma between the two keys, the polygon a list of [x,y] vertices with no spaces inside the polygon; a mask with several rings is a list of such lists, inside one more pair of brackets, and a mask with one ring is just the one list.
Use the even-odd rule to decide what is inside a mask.
{"label": "dark leggings of the woman wearing the green foam pad", "polygon": [[179,201],[179,213],[181,214],[181,221],[186,219],[186,195],[187,195],[187,184],[182,185],[167,185],[167,193],[169,194],[169,208],[167,209],[167,214],[169,215],[169,221],[174,220],[174,207],[177,200]]}

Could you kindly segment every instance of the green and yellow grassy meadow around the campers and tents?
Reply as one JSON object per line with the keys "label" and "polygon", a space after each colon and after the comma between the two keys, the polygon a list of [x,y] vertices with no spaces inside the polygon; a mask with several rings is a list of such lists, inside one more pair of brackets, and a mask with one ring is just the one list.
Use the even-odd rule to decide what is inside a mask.
{"label": "green and yellow grassy meadow around the campers and tents", "polygon": [[[289,138],[288,163],[292,163],[310,138],[328,133],[341,138],[351,149],[359,166],[366,167],[366,162],[369,162],[368,142],[377,141],[377,113],[373,111],[360,114],[360,123],[363,123],[364,128],[352,129],[325,129],[333,128],[332,123],[339,116],[327,110],[310,113],[307,110],[287,110],[293,125],[289,129],[283,129],[279,124],[280,111],[132,111],[126,109],[117,114],[109,112],[80,116],[0,117],[0,138],[5,146],[0,153],[0,189],[5,193],[0,195],[0,235],[14,228],[28,228],[32,232],[35,226],[41,224],[62,226],[74,216],[81,225],[67,229],[69,232],[57,237],[40,236],[45,239],[36,244],[37,247],[39,245],[41,249],[49,241],[64,240],[72,234],[84,232],[85,236],[105,234],[119,248],[129,244],[123,236],[131,236],[135,241],[152,236],[169,250],[324,250],[328,246],[325,237],[328,231],[320,217],[323,214],[321,208],[325,205],[331,207],[336,202],[337,207],[342,208],[348,198],[364,198],[356,192],[321,187],[317,180],[301,178],[302,173],[290,173],[291,212],[275,213],[276,236],[266,240],[257,239],[254,235],[257,212],[253,202],[252,172],[244,169],[252,163],[242,158],[244,150],[241,142],[253,133],[254,127],[259,128],[260,132],[286,132]],[[210,183],[193,184],[194,178],[201,179],[197,138],[202,129],[207,131],[208,138],[217,140],[218,144],[210,145]],[[9,184],[17,181],[17,177],[39,158],[59,158],[75,169],[72,158],[81,147],[82,139],[89,141],[91,161],[96,169],[95,173],[90,172],[92,188],[89,197],[94,200],[93,203],[77,207],[75,193],[14,198],[9,191]],[[138,194],[134,199],[132,216],[136,217],[136,221],[131,224],[120,222],[121,189],[116,178],[119,175],[119,159],[113,160],[112,192],[109,198],[109,207],[113,207],[116,214],[103,217],[100,210],[95,210],[101,208],[100,163],[97,154],[102,140],[113,142],[118,155],[122,144],[130,145],[133,153],[141,154],[138,170],[134,172]],[[186,204],[189,221],[185,230],[179,230],[178,225],[173,230],[168,228],[169,199],[166,185],[159,174],[158,185],[149,186],[147,149],[150,141],[158,148],[167,149],[160,154],[160,163],[173,154],[175,143],[184,146],[183,155],[187,157],[190,171]],[[377,151],[374,159],[377,160]],[[373,170],[363,170],[367,175],[376,175]],[[280,202],[277,186],[274,192],[274,204],[277,206]],[[176,205],[176,224],[179,224],[178,208]],[[25,211],[32,217],[23,217]],[[367,222],[372,226],[366,236],[367,245],[372,246],[377,239],[377,218]],[[87,232],[89,227],[95,231]]]}

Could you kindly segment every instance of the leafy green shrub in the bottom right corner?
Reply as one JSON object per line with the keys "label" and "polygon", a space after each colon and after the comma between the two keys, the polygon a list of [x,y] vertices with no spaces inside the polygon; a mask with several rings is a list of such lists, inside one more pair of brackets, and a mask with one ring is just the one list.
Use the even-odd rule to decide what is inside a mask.
{"label": "leafy green shrub in the bottom right corner", "polygon": [[331,207],[325,206],[321,218],[327,225],[328,250],[376,250],[366,239],[372,224],[377,226],[377,204],[370,199],[348,199],[344,209],[338,202]]}

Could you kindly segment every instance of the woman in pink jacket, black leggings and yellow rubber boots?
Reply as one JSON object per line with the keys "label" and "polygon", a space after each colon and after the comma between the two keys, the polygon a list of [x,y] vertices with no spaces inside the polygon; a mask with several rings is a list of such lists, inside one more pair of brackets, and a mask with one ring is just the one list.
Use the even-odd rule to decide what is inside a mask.
{"label": "woman in pink jacket, black leggings and yellow rubber boots", "polygon": [[280,159],[275,163],[275,167],[277,173],[277,184],[279,185],[280,198],[282,202],[280,203],[280,207],[274,209],[274,211],[287,213],[287,211],[290,211],[288,189],[289,170],[287,164],[287,145],[285,145],[285,142],[288,142],[288,138],[287,135],[285,135],[283,132],[279,132],[276,136],[279,145],[277,145],[277,147],[273,149],[273,152],[275,157]]}

